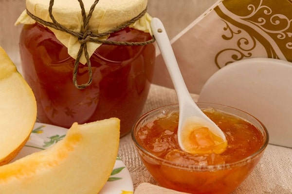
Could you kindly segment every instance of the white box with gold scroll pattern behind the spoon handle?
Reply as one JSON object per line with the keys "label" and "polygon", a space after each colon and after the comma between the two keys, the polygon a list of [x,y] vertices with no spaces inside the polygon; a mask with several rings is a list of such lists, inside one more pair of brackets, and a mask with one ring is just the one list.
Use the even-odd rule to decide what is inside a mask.
{"label": "white box with gold scroll pattern behind the spoon handle", "polygon": [[[225,65],[248,58],[292,62],[291,0],[219,0],[171,40],[190,92]],[[172,85],[162,57],[154,80]],[[166,80],[166,81],[165,81]]]}

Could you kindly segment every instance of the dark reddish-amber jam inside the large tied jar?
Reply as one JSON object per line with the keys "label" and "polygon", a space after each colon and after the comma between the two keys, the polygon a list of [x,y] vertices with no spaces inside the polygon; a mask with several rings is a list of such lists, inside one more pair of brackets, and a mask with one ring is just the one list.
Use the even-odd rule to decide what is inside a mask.
{"label": "dark reddish-amber jam inside the large tied jar", "polygon": [[[125,28],[108,40],[143,42],[149,33]],[[93,81],[85,89],[73,85],[74,59],[48,28],[24,25],[20,34],[23,76],[37,99],[38,122],[69,128],[110,117],[121,119],[121,135],[140,116],[152,79],[155,48],[102,45],[91,56]],[[89,79],[88,66],[79,63],[78,84]]]}

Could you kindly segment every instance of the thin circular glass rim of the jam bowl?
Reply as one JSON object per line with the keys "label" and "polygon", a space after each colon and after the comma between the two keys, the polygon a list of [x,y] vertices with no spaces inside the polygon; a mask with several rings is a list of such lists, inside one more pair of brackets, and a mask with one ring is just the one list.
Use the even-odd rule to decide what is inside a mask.
{"label": "thin circular glass rim of the jam bowl", "polygon": [[[142,152],[144,155],[146,155],[148,158],[151,158],[152,160],[154,159],[156,163],[159,164],[163,164],[165,166],[168,167],[172,167],[172,168],[176,168],[176,169],[180,169],[180,170],[187,170],[187,171],[217,171],[217,170],[224,170],[224,169],[231,169],[234,167],[238,167],[238,166],[242,166],[246,163],[249,163],[253,160],[255,160],[257,157],[261,156],[261,153],[263,153],[263,151],[265,150],[265,148],[268,146],[269,144],[269,132],[266,129],[265,125],[258,120],[255,116],[251,115],[250,113],[247,113],[245,111],[242,111],[240,109],[231,107],[231,106],[227,106],[227,105],[222,105],[222,104],[218,104],[218,103],[206,103],[206,102],[196,102],[198,105],[215,105],[215,106],[220,106],[220,107],[227,107],[229,109],[233,109],[236,111],[239,111],[241,113],[244,113],[250,117],[252,117],[253,119],[256,120],[256,122],[258,122],[258,124],[261,126],[261,128],[263,129],[263,136],[264,136],[264,142],[263,145],[252,155],[243,158],[237,162],[231,162],[231,163],[224,163],[224,164],[216,164],[216,165],[183,165],[183,164],[178,164],[175,162],[170,162],[167,161],[165,159],[162,159],[160,157],[155,156],[154,154],[150,153],[149,151],[147,151],[144,147],[142,147],[138,142],[137,139],[135,138],[135,127],[137,126],[138,123],[140,123],[141,120],[143,120],[148,114],[159,111],[161,109],[165,109],[167,107],[175,107],[175,106],[179,106],[178,104],[170,104],[170,105],[166,105],[166,106],[162,106],[156,109],[153,109],[147,113],[144,113],[133,125],[132,130],[131,130],[131,137],[132,137],[132,141],[134,142],[135,146],[138,148],[138,153]],[[228,113],[228,112],[226,112]],[[141,154],[141,153],[139,153]]]}

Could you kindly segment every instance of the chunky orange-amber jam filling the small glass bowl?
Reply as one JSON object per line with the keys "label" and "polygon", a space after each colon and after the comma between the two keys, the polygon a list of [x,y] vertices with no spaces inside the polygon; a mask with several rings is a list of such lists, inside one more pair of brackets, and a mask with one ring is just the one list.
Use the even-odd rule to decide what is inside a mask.
{"label": "chunky orange-amber jam filling the small glass bowl", "polygon": [[268,141],[266,129],[260,130],[234,114],[207,108],[204,113],[222,129],[228,146],[221,154],[190,154],[178,145],[178,108],[169,107],[144,115],[132,132],[153,178],[166,188],[187,193],[228,194],[235,190],[259,161]]}

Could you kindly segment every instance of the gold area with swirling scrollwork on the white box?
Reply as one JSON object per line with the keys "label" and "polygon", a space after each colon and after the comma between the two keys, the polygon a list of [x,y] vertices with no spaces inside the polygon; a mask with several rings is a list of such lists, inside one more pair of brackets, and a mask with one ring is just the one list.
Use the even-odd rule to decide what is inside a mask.
{"label": "gold area with swirling scrollwork on the white box", "polygon": [[[236,7],[234,1],[226,0],[214,9],[226,24],[223,28],[226,34],[221,37],[237,43],[235,48],[221,49],[215,56],[219,68],[252,57],[260,45],[268,58],[292,61],[292,18],[287,13],[292,9],[292,3],[283,1],[281,6],[275,6],[278,3],[247,0],[241,2],[241,7]],[[287,9],[283,9],[285,6]]]}

